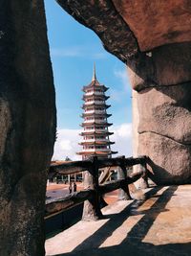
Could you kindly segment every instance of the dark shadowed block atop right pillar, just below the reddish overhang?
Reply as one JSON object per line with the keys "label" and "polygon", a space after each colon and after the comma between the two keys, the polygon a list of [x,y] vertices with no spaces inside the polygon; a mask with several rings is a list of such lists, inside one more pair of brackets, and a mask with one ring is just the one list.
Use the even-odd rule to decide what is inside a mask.
{"label": "dark shadowed block atop right pillar, just below the reddish overhang", "polygon": [[191,43],[175,43],[154,49],[133,61],[129,76],[133,89],[176,85],[191,81]]}

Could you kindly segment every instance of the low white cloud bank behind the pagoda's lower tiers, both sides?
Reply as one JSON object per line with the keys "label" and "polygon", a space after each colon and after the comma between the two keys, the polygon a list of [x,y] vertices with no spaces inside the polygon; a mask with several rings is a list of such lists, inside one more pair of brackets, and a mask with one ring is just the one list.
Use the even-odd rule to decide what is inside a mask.
{"label": "low white cloud bank behind the pagoda's lower tiers, both sides", "polygon": [[[122,124],[111,128],[114,135],[111,136],[111,141],[115,144],[111,146],[112,151],[118,151],[116,155],[132,155],[132,125]],[[81,160],[81,156],[77,155],[76,151],[81,151],[81,146],[78,142],[81,140],[79,129],[58,129],[57,139],[54,145],[53,160],[64,160],[66,156],[72,160]]]}

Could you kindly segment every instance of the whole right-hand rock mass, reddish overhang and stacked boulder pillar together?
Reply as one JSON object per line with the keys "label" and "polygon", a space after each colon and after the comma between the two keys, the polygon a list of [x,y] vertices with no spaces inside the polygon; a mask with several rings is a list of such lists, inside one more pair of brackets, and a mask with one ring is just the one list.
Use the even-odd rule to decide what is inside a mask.
{"label": "whole right-hand rock mass, reddish overhang and stacked boulder pillar together", "polygon": [[134,155],[158,184],[191,181],[190,1],[57,0],[128,65]]}

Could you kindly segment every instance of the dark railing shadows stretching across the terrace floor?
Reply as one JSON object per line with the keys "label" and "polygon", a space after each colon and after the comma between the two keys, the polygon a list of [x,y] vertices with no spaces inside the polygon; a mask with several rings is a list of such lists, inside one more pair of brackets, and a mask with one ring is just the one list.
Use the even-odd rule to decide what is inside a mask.
{"label": "dark railing shadows stretching across the terrace floor", "polygon": [[[56,254],[54,256],[113,256],[113,255],[191,255],[191,244],[161,244],[154,245],[149,243],[143,243],[142,240],[145,238],[149,229],[152,227],[154,221],[157,219],[161,212],[167,211],[165,209],[166,204],[170,198],[175,197],[175,191],[177,186],[171,186],[167,188],[158,200],[146,211],[138,211],[138,207],[145,202],[147,198],[158,197],[157,192],[161,188],[157,187],[152,189],[146,194],[144,201],[133,201],[129,204],[121,213],[110,216],[110,218],[103,226],[101,226],[92,236],[86,239],[83,243],[79,244],[70,253]],[[142,214],[143,217],[133,226],[128,232],[127,236],[123,241],[114,246],[99,247],[104,241],[110,237],[113,232],[128,219],[129,216],[136,216]],[[79,234],[80,236],[80,234]]]}

